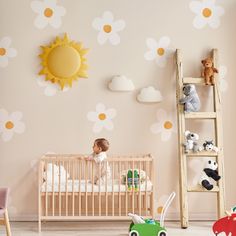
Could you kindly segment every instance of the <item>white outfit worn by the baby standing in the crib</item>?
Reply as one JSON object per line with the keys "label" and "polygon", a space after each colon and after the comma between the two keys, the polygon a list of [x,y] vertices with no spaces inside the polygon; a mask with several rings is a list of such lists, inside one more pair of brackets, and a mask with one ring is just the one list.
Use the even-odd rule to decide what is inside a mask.
{"label": "white outfit worn by the baby standing in the crib", "polygon": [[111,169],[108,162],[106,161],[107,159],[106,152],[100,152],[99,154],[93,153],[92,159],[95,162],[94,180],[93,180],[94,184],[99,185],[99,182],[101,184],[105,184],[106,178],[107,180],[109,180],[111,177]]}

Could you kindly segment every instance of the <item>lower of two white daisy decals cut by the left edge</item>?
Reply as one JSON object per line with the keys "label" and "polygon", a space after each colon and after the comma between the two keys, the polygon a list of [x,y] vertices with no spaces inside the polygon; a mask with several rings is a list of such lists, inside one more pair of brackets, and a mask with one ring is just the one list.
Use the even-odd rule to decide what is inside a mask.
{"label": "lower of two white daisy decals cut by the left edge", "polygon": [[3,141],[10,141],[14,133],[24,133],[25,124],[21,121],[22,116],[19,111],[8,114],[5,109],[0,109],[0,134]]}

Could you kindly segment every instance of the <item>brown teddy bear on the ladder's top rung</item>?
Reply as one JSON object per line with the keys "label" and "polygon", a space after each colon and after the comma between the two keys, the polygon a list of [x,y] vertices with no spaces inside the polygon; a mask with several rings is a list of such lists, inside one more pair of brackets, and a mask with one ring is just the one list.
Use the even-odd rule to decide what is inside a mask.
{"label": "brown teddy bear on the ladder's top rung", "polygon": [[202,77],[205,79],[205,84],[215,84],[214,73],[218,73],[218,70],[214,68],[212,58],[206,58],[202,60],[204,70],[202,71]]}

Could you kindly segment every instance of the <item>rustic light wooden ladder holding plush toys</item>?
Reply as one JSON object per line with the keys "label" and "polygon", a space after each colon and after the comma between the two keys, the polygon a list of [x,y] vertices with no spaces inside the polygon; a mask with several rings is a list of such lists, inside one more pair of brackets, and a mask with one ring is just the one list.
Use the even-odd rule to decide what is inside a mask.
{"label": "rustic light wooden ladder holding plush toys", "polygon": [[[212,57],[214,65],[218,66],[218,51],[212,50]],[[179,176],[180,176],[180,216],[181,227],[187,228],[189,224],[188,214],[188,192],[208,192],[217,194],[217,212],[218,218],[224,216],[225,213],[225,193],[224,193],[224,155],[223,155],[223,129],[222,129],[222,116],[221,116],[221,96],[219,90],[218,77],[215,77],[215,85],[213,85],[213,100],[214,111],[213,112],[190,112],[185,114],[183,105],[179,104],[179,99],[183,96],[183,86],[185,84],[205,85],[203,78],[191,78],[183,77],[183,64],[181,51],[176,50],[176,103],[177,103],[177,119],[178,119],[178,155],[179,155]],[[185,121],[186,119],[204,119],[213,120],[215,128],[215,142],[219,148],[218,153],[198,152],[186,154],[184,151],[183,143],[185,142]],[[188,186],[187,181],[187,159],[190,158],[204,158],[214,157],[218,163],[218,172],[221,176],[218,181],[218,186],[215,186],[212,190],[208,191],[199,186]]]}

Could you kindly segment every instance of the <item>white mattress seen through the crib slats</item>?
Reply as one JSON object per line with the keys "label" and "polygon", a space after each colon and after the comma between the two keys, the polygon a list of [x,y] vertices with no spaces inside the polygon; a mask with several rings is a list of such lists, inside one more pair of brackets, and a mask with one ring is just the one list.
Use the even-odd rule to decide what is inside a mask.
{"label": "white mattress seen through the crib slats", "polygon": [[[147,185],[147,187],[146,187]],[[112,187],[113,186],[113,187]],[[47,187],[47,188],[46,188]],[[41,192],[53,192],[53,187],[52,183],[43,183],[41,186]],[[106,185],[100,186],[99,190],[99,185],[92,184],[90,181],[87,181],[87,187],[86,187],[86,180],[81,180],[81,183],[79,180],[74,180],[74,186],[73,186],[73,180],[68,180],[67,184],[66,182],[60,183],[60,188],[59,188],[59,183],[54,183],[54,192],[89,192],[91,193],[92,190],[93,192],[126,192],[126,185],[120,184],[119,180],[114,180],[113,184],[112,181],[108,181],[107,183],[107,190],[106,190]],[[140,186],[140,190],[143,191],[152,191],[152,182],[150,180],[142,183]],[[139,191],[139,190],[138,190]]]}

